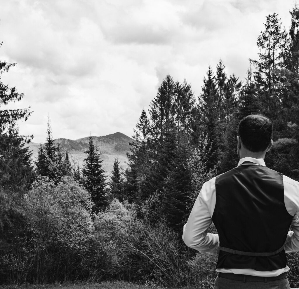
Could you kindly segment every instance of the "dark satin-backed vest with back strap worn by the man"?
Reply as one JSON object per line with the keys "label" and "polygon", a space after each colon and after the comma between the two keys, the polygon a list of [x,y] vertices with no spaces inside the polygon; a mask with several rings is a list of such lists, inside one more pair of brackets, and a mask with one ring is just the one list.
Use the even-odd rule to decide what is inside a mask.
{"label": "dark satin-backed vest with back strap worn by the man", "polygon": [[[283,175],[245,162],[216,177],[212,216],[220,246],[245,252],[271,252],[286,241],[292,216],[284,204]],[[219,252],[216,268],[271,271],[286,267],[286,253],[242,256]]]}

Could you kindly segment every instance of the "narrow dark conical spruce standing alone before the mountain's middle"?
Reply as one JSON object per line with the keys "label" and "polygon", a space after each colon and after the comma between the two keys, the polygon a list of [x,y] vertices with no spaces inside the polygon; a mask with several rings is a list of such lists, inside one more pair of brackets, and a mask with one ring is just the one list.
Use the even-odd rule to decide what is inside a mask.
{"label": "narrow dark conical spruce standing alone before the mountain's middle", "polygon": [[107,205],[106,176],[102,168],[103,160],[98,148],[94,146],[92,137],[89,137],[89,149],[85,152],[86,158],[83,160],[83,185],[90,192],[91,199],[95,204],[93,211],[98,213]]}

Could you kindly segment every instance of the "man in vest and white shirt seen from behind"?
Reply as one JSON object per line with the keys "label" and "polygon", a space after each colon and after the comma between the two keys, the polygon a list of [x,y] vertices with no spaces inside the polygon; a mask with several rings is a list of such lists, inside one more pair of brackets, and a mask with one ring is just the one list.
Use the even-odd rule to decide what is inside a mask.
{"label": "man in vest and white shirt seen from behind", "polygon": [[[238,166],[202,186],[184,225],[188,247],[218,254],[214,288],[290,288],[286,253],[299,251],[299,183],[266,167],[271,135],[268,118],[241,120]],[[207,233],[212,221],[218,234]]]}

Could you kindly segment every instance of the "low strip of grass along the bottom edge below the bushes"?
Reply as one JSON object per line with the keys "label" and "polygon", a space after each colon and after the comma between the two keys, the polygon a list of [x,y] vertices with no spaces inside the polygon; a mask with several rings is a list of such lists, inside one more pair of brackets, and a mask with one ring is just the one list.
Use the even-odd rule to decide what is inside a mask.
{"label": "low strip of grass along the bottom edge below the bushes", "polygon": [[39,285],[2,285],[1,289],[158,289],[161,287],[138,285],[127,282],[101,282],[101,283],[64,283],[64,284],[39,284]]}

